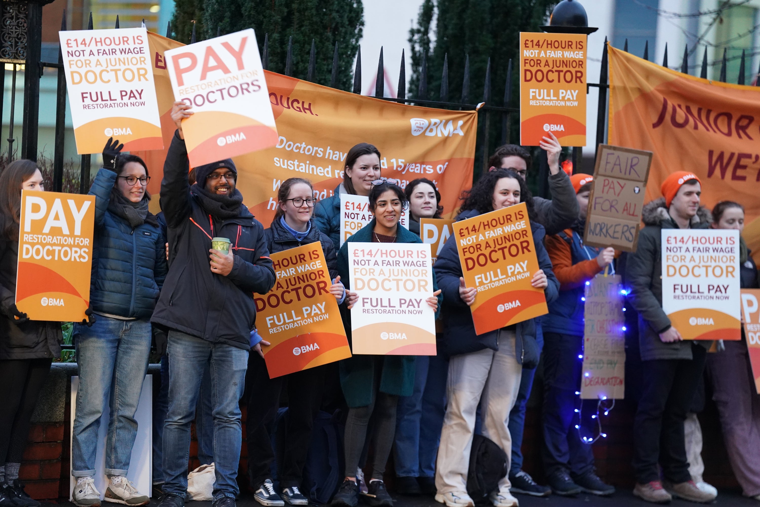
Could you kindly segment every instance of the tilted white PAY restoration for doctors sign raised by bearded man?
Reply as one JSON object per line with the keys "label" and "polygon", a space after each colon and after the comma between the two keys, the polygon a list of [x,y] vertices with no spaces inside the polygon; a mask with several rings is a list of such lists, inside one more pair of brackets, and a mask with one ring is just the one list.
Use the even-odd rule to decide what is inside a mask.
{"label": "tilted white PAY restoration for doctors sign raised by bearded man", "polygon": [[195,112],[182,121],[191,166],[277,144],[252,28],[169,49],[163,55],[174,97]]}

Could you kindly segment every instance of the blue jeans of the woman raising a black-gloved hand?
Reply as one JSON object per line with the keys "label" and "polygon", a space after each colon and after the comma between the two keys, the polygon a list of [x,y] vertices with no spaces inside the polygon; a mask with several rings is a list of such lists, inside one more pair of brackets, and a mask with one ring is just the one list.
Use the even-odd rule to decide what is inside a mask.
{"label": "blue jeans of the woman raising a black-gloved hand", "polygon": [[91,328],[74,325],[74,345],[79,390],[71,435],[71,474],[95,474],[100,417],[109,404],[106,474],[126,475],[138,433],[135,412],[147,372],[150,322],[97,315]]}

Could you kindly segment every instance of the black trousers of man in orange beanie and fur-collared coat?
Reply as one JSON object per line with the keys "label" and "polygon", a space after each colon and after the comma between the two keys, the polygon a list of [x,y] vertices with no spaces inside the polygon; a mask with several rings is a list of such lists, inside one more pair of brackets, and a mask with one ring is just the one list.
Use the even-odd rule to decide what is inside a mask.
{"label": "black trousers of man in orange beanie and fur-collared coat", "polygon": [[643,362],[641,400],[633,423],[633,466],[638,483],[660,480],[658,462],[666,480],[673,483],[692,480],[683,422],[705,369],[707,350],[694,343],[692,355],[692,360]]}

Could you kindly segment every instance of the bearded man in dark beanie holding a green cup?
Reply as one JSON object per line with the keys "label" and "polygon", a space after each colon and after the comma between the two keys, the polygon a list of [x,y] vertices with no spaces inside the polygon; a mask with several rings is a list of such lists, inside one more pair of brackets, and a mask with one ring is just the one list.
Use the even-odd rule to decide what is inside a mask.
{"label": "bearded man in dark beanie holding a green cup", "polygon": [[[234,507],[242,442],[239,400],[245,386],[253,293],[274,286],[264,227],[242,204],[232,160],[195,168],[188,184],[182,120],[193,113],[175,102],[177,131],[166,154],[161,204],[169,230],[171,268],[152,321],[169,328],[169,410],[163,429],[161,507],[180,507],[187,493],[190,423],[204,369],[214,392],[214,507]],[[226,239],[228,251],[212,249]]]}

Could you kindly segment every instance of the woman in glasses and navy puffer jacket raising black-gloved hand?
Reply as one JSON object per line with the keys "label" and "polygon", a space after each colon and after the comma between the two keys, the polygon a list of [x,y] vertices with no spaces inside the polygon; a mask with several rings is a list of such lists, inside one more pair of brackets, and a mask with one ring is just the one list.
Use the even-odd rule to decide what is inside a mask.
{"label": "woman in glasses and navy puffer jacket raising black-gloved hand", "polygon": [[81,507],[100,505],[93,476],[106,399],[106,500],[126,505],[149,501],[148,492],[138,492],[126,476],[150,353],[150,315],[166,277],[166,241],[148,211],[147,166],[140,157],[120,155],[123,146],[109,139],[103,168],[90,189],[95,196],[90,309],[97,316],[94,322],[74,326],[79,389],[71,474],[77,477],[74,503]]}

